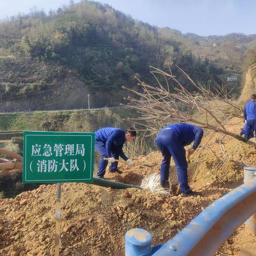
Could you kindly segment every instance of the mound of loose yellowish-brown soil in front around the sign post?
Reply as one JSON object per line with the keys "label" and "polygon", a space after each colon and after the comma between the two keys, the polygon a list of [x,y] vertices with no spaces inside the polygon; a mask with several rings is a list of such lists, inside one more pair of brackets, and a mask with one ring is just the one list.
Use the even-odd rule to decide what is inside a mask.
{"label": "mound of loose yellowish-brown soil in front around the sign post", "polygon": [[[65,183],[62,247],[71,249],[70,255],[121,256],[126,231],[136,227],[147,229],[155,244],[165,243],[222,193],[182,198]],[[54,254],[55,195],[56,185],[42,185],[0,201],[0,255]]]}

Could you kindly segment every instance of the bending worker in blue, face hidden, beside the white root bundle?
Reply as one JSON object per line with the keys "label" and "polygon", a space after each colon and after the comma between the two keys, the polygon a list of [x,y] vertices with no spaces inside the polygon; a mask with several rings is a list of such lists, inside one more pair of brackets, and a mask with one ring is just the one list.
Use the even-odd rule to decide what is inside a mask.
{"label": "bending worker in blue, face hidden, beside the white root bundle", "polygon": [[169,166],[173,157],[182,196],[197,195],[188,186],[188,163],[184,146],[194,141],[193,147],[188,150],[189,155],[193,154],[202,140],[203,133],[200,127],[186,123],[167,125],[158,133],[156,143],[164,157],[160,171],[161,187],[169,186]]}

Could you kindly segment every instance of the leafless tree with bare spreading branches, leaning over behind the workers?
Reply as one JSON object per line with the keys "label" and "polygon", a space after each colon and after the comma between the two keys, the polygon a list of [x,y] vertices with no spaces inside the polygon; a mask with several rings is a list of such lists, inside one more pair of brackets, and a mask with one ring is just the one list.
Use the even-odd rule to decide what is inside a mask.
{"label": "leafless tree with bare spreading branches, leaning over behind the workers", "polygon": [[231,127],[230,120],[233,117],[241,118],[242,123],[243,109],[232,100],[225,85],[217,86],[214,90],[206,88],[195,83],[180,69],[190,87],[193,86],[193,90],[188,90],[172,75],[171,70],[166,73],[155,67],[151,68],[156,85],[149,85],[135,77],[140,87],[138,90],[123,87],[134,94],[126,99],[130,102],[124,106],[136,109],[141,114],[138,118],[128,118],[129,121],[142,125],[151,133],[171,123],[193,123],[203,129],[252,143],[227,128]]}

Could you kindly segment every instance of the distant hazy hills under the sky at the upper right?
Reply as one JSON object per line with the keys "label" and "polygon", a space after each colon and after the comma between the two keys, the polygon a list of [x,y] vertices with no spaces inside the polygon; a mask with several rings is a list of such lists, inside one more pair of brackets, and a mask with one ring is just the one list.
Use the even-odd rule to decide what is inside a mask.
{"label": "distant hazy hills under the sky at the upper right", "polygon": [[182,43],[201,58],[207,58],[217,67],[242,72],[248,49],[256,46],[256,35],[232,33],[225,36],[198,36],[182,34],[179,30],[159,28],[164,38]]}

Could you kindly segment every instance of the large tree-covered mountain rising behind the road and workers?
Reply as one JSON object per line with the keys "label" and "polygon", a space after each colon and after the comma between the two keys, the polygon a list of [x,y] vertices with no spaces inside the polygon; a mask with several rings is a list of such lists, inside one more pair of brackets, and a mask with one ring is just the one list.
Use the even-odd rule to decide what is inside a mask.
{"label": "large tree-covered mountain rising behind the road and workers", "polygon": [[170,31],[92,1],[4,20],[0,110],[87,108],[87,94],[91,107],[118,106],[135,75],[153,81],[150,65],[179,76],[178,65],[199,82],[221,83],[222,66],[190,49],[193,36]]}

